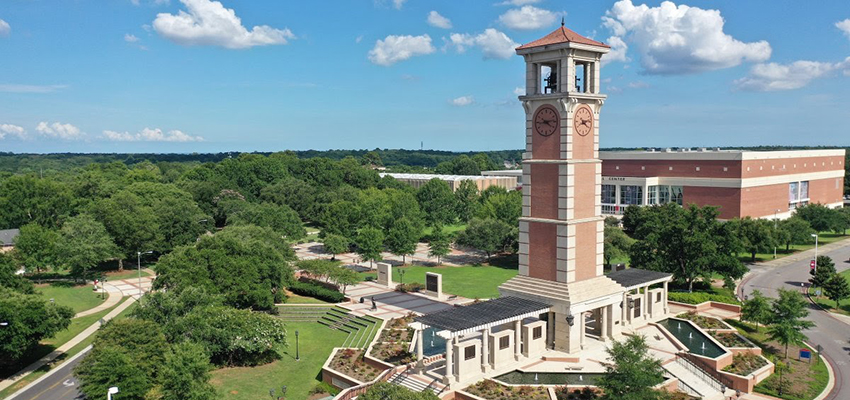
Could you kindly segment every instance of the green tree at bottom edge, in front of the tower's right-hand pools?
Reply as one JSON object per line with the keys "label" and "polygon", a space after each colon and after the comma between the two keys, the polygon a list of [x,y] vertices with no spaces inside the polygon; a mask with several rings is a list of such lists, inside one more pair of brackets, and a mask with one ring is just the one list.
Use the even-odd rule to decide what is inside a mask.
{"label": "green tree at bottom edge, in front of the tower's right-hand pools", "polygon": [[654,386],[664,381],[661,361],[649,354],[643,336],[629,336],[608,349],[605,372],[597,383],[602,400],[662,400],[665,393]]}

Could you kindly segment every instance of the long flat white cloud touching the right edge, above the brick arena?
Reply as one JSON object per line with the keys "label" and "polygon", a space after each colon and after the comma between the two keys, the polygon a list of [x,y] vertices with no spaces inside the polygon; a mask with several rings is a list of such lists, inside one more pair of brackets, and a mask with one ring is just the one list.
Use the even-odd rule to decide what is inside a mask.
{"label": "long flat white cloud touching the right edge, above the brick arena", "polygon": [[840,70],[845,76],[850,76],[850,57],[838,63],[801,60],[790,64],[756,64],[750,68],[749,75],[734,84],[738,89],[757,92],[792,90]]}

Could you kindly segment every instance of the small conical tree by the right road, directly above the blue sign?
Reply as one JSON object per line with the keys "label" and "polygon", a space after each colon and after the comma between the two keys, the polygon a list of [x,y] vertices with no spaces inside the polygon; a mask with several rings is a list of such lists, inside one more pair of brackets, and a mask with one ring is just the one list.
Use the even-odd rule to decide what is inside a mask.
{"label": "small conical tree by the right road, directly above the blue sign", "polygon": [[809,315],[807,305],[803,295],[795,290],[779,289],[779,298],[773,301],[773,316],[767,334],[785,346],[785,358],[788,358],[788,346],[802,345],[806,339],[803,330],[815,326],[813,322],[803,319]]}

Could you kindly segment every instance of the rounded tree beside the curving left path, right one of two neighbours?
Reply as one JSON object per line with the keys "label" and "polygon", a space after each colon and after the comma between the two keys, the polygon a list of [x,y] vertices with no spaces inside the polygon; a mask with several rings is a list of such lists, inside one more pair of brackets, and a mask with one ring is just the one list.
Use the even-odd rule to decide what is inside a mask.
{"label": "rounded tree beside the curving left path, right one of two neighbours", "polygon": [[118,246],[106,228],[88,214],[65,221],[56,247],[62,265],[77,278],[85,278],[90,268],[119,256]]}

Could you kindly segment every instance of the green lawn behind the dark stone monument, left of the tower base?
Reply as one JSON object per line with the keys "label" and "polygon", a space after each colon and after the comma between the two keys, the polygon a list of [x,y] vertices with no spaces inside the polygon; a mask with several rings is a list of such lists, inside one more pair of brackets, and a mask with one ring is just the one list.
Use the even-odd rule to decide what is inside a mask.
{"label": "green lawn behind the dark stone monument, left of the tower base", "polygon": [[[404,277],[399,273],[404,271]],[[456,294],[470,299],[484,299],[499,296],[496,288],[517,274],[517,269],[490,265],[467,265],[463,267],[424,267],[404,266],[393,268],[393,282],[419,282],[425,284],[425,273],[436,272],[443,275],[443,292]],[[364,273],[375,276],[375,273]]]}

